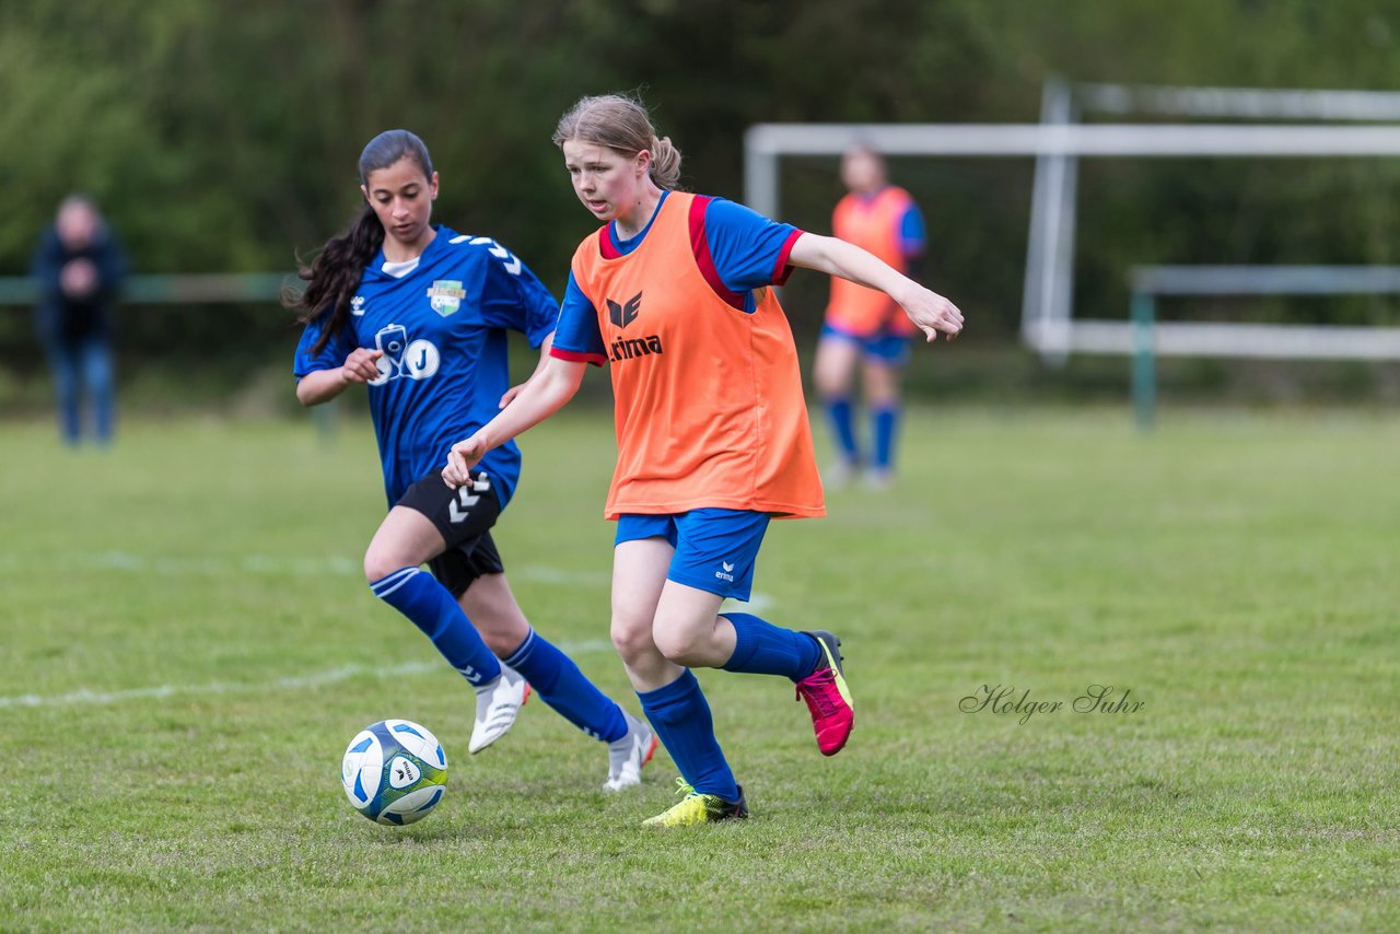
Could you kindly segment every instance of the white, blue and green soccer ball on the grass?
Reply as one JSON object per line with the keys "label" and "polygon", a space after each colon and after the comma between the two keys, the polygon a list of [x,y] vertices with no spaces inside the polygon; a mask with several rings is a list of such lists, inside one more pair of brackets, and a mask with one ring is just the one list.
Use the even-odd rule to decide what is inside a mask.
{"label": "white, blue and green soccer ball on the grass", "polygon": [[354,809],[377,823],[421,821],[447,791],[447,753],[424,727],[381,720],[356,734],[340,762]]}

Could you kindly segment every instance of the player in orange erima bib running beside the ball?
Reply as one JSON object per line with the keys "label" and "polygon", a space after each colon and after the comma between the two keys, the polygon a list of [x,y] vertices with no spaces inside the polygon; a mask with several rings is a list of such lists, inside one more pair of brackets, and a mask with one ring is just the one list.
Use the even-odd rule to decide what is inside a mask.
{"label": "player in orange erima bib running beside the ball", "polygon": [[630,98],[581,99],[554,141],[603,227],[574,253],[547,364],[452,447],[442,476],[469,489],[475,465],[563,406],[587,364],[612,363],[612,639],[685,794],[647,823],[743,818],[690,668],[788,678],[823,755],[854,723],[836,636],[720,613],[725,598],[749,598],[770,518],[825,513],[797,349],[770,286],[792,266],[855,279],[897,295],[930,340],[956,335],[962,315],[850,244],[676,190],[680,151]]}

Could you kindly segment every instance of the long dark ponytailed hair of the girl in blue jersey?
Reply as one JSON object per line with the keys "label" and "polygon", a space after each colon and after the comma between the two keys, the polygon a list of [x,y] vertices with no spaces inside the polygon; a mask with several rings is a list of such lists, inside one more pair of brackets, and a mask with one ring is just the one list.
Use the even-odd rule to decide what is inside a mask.
{"label": "long dark ponytailed hair of the girl in blue jersey", "polygon": [[[368,186],[370,172],[389,168],[405,157],[417,162],[424,178],[431,181],[433,157],[423,140],[407,130],[385,130],[360,153],[360,183]],[[364,267],[382,245],[384,224],[367,203],[356,223],[328,239],[309,266],[297,258],[298,274],[307,280],[307,288],[300,295],[284,295],[283,304],[297,311],[302,323],[325,319],[321,336],[311,347],[312,356],[321,353],[346,326],[350,300],[360,287]]]}

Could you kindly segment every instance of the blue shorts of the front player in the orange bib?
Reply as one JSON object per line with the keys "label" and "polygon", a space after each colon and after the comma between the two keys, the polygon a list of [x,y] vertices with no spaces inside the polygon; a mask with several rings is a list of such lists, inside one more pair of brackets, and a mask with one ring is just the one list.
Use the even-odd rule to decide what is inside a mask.
{"label": "blue shorts of the front player in the orange bib", "polygon": [[617,541],[664,538],[676,549],[666,580],[696,590],[748,601],[753,564],[759,559],[767,513],[748,510],[690,510],[671,515],[617,517]]}

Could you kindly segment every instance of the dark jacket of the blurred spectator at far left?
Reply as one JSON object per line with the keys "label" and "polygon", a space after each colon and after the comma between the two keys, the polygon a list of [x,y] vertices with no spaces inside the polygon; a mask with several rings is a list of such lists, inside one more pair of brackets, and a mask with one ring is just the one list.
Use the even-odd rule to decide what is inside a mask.
{"label": "dark jacket of the blurred spectator at far left", "polygon": [[[98,284],[91,295],[69,298],[59,287],[63,266],[85,258],[97,266]],[[69,249],[53,227],[39,239],[34,253],[31,274],[38,283],[39,302],[35,308],[39,337],[45,343],[77,343],[97,337],[112,337],[112,307],[126,276],[126,255],[112,230],[105,224],[91,244],[83,249]]]}

